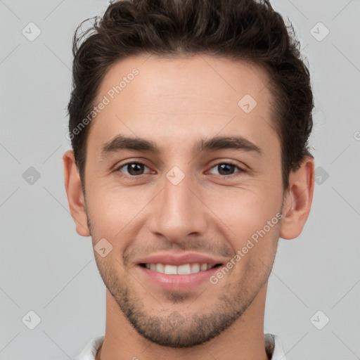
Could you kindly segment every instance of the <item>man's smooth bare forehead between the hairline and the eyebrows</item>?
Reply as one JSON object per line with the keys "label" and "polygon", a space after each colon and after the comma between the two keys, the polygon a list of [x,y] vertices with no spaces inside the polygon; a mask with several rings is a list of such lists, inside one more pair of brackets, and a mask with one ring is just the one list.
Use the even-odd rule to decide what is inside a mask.
{"label": "man's smooth bare forehead between the hairline and the eyebrows", "polygon": [[104,143],[120,133],[153,134],[165,141],[176,134],[181,141],[244,129],[245,136],[264,142],[262,131],[275,134],[268,82],[263,68],[245,61],[205,55],[124,58],[101,82],[94,103],[106,98],[107,105],[93,120],[89,138],[96,134]]}

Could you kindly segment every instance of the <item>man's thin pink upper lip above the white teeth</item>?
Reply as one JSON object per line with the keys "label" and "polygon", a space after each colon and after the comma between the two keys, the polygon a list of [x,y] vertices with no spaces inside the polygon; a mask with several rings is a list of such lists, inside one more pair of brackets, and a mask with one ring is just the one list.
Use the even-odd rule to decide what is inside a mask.
{"label": "man's thin pink upper lip above the white teeth", "polygon": [[138,264],[168,264],[180,266],[182,264],[222,264],[223,260],[202,255],[196,252],[169,253],[162,252],[158,254],[143,257],[137,261]]}

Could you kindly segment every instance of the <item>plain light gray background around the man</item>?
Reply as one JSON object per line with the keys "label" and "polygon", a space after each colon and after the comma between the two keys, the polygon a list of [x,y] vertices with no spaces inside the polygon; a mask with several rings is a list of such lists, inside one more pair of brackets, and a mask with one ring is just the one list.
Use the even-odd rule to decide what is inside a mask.
{"label": "plain light gray background around the man", "polygon": [[[302,235],[279,241],[264,330],[288,360],[360,359],[360,1],[272,3],[309,60],[318,184]],[[105,286],[68,211],[62,155],[72,34],[106,7],[0,1],[0,359],[72,359],[105,330]],[[22,33],[30,22],[41,30],[34,41]],[[319,22],[330,31],[322,41]],[[41,319],[34,330],[30,310]]]}

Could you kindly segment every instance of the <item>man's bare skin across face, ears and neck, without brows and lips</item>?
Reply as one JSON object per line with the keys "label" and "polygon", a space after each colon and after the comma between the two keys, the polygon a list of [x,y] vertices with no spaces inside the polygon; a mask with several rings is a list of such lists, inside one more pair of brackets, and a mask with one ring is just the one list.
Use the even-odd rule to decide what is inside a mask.
{"label": "man's bare skin across face, ears and neck, without brows and lips", "polygon": [[[108,70],[95,103],[133,68],[139,75],[91,124],[86,197],[72,151],[63,156],[77,233],[91,235],[93,245],[105,238],[113,246],[105,257],[94,251],[107,287],[105,340],[96,359],[268,359],[267,281],[279,236],[296,238],[307,221],[314,160],[304,158],[283,191],[269,78],[257,65],[203,55],[125,58]],[[238,106],[245,94],[257,101],[250,113]],[[117,135],[153,141],[159,152],[101,157]],[[243,136],[261,154],[193,149],[214,136]],[[127,162],[146,166],[134,175]],[[221,172],[218,165],[229,163],[236,166]],[[177,185],[166,177],[174,166],[184,173]],[[226,265],[279,212],[283,219],[215,285],[165,290],[138,266],[144,256],[188,251]]]}

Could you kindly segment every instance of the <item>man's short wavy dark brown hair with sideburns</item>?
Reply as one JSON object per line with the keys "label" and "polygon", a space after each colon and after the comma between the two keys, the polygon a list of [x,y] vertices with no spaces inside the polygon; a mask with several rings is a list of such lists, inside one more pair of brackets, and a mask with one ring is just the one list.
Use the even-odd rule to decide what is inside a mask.
{"label": "man's short wavy dark brown hair with sideburns", "polygon": [[[89,19],[85,20],[88,21]],[[84,22],[83,22],[84,23]],[[283,188],[300,167],[312,129],[314,100],[309,70],[300,46],[283,18],[256,0],[120,0],[103,18],[74,35],[69,131],[84,188],[86,134],[91,123],[75,131],[91,113],[105,73],[115,61],[151,53],[246,60],[266,68],[274,100],[274,125],[281,141]],[[310,155],[311,156],[311,155]]]}

